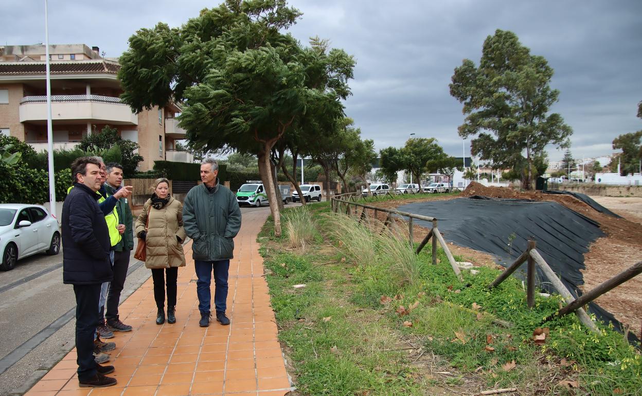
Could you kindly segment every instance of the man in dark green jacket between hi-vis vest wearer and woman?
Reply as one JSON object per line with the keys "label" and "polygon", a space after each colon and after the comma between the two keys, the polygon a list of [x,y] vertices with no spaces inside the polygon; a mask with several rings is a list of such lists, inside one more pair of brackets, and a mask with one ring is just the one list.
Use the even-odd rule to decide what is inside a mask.
{"label": "man in dark green jacket between hi-vis vest wearer and woman", "polygon": [[[116,162],[107,164],[107,182],[103,184],[103,187],[105,187],[108,196],[114,196],[117,191],[123,188],[121,187],[123,177],[122,165],[116,164]],[[134,219],[127,198],[119,198],[116,203],[116,211],[120,223],[125,225],[125,232],[122,235],[123,239],[116,246],[112,246],[112,250],[114,250],[114,280],[109,284],[105,318],[107,319],[108,327],[112,331],[132,331],[132,326],[121,322],[118,317],[118,303],[123,286],[125,286],[130,252],[134,249]],[[100,318],[100,320],[102,321],[103,318]]]}

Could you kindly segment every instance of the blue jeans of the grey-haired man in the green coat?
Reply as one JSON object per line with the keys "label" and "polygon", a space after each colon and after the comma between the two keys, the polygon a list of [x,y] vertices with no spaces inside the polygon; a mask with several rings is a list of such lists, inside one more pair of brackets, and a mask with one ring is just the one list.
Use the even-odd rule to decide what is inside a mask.
{"label": "blue jeans of the grey-haired man in the green coat", "polygon": [[212,271],[214,271],[214,306],[216,312],[225,312],[227,308],[227,272],[230,268],[229,260],[219,261],[194,261],[196,270],[196,295],[198,296],[198,311],[210,312],[209,302],[212,298],[210,285],[212,282]]}

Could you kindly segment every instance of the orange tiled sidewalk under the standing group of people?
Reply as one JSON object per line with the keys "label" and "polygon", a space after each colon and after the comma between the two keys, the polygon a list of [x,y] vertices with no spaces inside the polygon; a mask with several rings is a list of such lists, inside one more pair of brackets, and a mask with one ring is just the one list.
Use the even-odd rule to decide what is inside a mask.
{"label": "orange tiled sidewalk under the standing group of people", "polygon": [[263,258],[256,242],[268,214],[265,210],[243,214],[241,231],[234,239],[227,297],[229,326],[216,320],[209,327],[198,326],[196,275],[189,243],[187,266],[178,270],[175,324],[155,323],[151,277],[121,304],[121,320],[134,330],[114,332],[116,336],[108,340],[116,343],[106,363],[116,367],[110,374],[118,380],[115,386],[80,388],[74,349],[26,395],[283,396],[290,392],[293,388],[277,341]]}

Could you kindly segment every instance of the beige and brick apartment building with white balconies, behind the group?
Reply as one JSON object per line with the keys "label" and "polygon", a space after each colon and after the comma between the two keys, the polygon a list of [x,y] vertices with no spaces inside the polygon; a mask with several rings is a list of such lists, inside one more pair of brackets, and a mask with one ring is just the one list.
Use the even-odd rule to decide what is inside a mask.
{"label": "beige and brick apartment building with white balconies, behind the group", "polygon": [[[155,107],[134,114],[119,95],[123,92],[114,58],[103,58],[98,47],[84,44],[49,47],[51,119],[54,148],[73,148],[87,133],[103,126],[117,128],[123,139],[137,142],[144,160],[191,162],[175,150],[186,132],[178,127],[179,105]],[[0,133],[28,142],[36,151],[47,149],[46,52],[44,45],[0,46]]]}

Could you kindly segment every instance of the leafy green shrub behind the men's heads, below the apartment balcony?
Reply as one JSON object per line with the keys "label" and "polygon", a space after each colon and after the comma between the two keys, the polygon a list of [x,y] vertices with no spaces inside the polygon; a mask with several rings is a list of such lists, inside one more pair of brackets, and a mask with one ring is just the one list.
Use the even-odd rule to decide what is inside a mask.
{"label": "leafy green shrub behind the men's heads, below the apartment balcony", "polygon": [[100,133],[94,131],[90,135],[83,137],[80,144],[78,144],[80,150],[94,153],[103,153],[114,148],[114,146],[119,147],[125,176],[134,175],[138,163],[143,160],[143,157],[135,152],[140,148],[140,145],[120,137],[116,128],[105,125]]}

